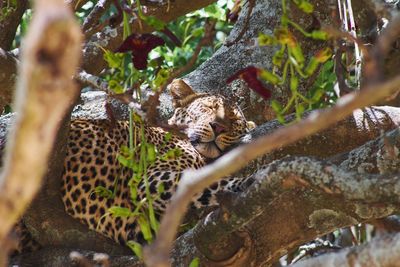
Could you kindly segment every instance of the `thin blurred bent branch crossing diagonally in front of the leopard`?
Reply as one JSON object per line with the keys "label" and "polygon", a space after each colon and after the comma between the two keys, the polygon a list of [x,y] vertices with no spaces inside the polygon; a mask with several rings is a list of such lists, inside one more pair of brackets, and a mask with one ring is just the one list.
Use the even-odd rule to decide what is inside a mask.
{"label": "thin blurred bent branch crossing diagonally in front of the leopard", "polygon": [[226,177],[248,162],[274,149],[288,145],[301,138],[316,133],[344,119],[357,108],[363,108],[398,91],[400,76],[380,84],[370,86],[342,97],[332,108],[316,111],[308,118],[291,126],[276,130],[271,135],[228,152],[214,163],[199,170],[185,171],[165,216],[161,221],[159,235],[155,242],[145,248],[145,262],[151,267],[169,266],[169,252],[176,230],[182,221],[187,206],[193,196],[200,193],[222,177]]}

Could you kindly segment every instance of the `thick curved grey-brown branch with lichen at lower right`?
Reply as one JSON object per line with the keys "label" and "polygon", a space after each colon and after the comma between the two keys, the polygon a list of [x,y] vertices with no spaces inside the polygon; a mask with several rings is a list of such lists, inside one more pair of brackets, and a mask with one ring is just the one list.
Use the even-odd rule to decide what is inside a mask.
{"label": "thick curved grey-brown branch with lichen at lower right", "polygon": [[[395,140],[398,151],[399,130],[388,136]],[[380,147],[376,154],[369,155],[376,158],[385,150],[385,138],[348,153],[342,163],[352,160],[353,155],[362,150],[367,154]],[[370,161],[359,159],[359,167]],[[397,155],[388,161],[397,169],[400,166]],[[248,190],[221,198],[220,209],[178,238],[172,252],[173,264],[184,265],[193,257],[200,257],[205,263],[235,258],[240,251],[238,246],[247,250],[240,252],[251,261],[247,265],[272,264],[287,251],[318,236],[398,212],[400,198],[396,188],[400,176],[360,171],[304,157],[275,161],[252,176],[256,182]],[[296,219],[288,220],[288,214]],[[245,245],[245,238],[240,234],[243,229],[251,233],[250,246]],[[188,244],[191,253],[186,255],[181,251],[182,246]],[[231,252],[230,257],[227,252]]]}

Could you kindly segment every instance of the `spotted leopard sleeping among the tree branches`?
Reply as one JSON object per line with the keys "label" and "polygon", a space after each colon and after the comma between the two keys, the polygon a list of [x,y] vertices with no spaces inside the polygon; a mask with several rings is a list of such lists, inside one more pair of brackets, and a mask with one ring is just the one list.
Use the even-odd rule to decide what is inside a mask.
{"label": "spotted leopard sleeping among the tree branches", "polygon": [[[197,93],[182,79],[174,80],[168,89],[174,106],[168,124],[184,135],[170,135],[166,140],[168,131],[164,128],[136,123],[131,126],[131,134],[144,134],[146,142],[157,147],[159,155],[180,151],[176,157],[158,157],[147,167],[147,189],[158,216],[165,211],[185,170],[199,169],[218,159],[255,127],[238,106],[221,95]],[[110,127],[108,120],[72,120],[61,183],[65,211],[89,229],[121,245],[131,240],[147,242],[135,216],[108,213],[112,207],[135,210],[135,203],[147,196],[146,182],[142,179],[133,201],[130,180],[134,170],[118,161],[121,147],[129,146],[129,138],[127,121],[116,121]],[[136,139],[134,145],[140,145],[140,138]],[[223,179],[196,195],[191,208],[216,206],[218,193],[238,192],[247,182],[241,178]],[[96,193],[99,187],[112,191],[113,196]]]}

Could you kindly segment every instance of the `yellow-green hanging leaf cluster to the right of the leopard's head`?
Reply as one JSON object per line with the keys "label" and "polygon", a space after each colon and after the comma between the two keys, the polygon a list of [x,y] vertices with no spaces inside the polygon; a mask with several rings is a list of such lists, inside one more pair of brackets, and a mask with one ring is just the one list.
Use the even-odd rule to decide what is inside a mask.
{"label": "yellow-green hanging leaf cluster to the right of the leopard's head", "polygon": [[[307,14],[311,14],[314,10],[313,5],[307,0],[293,0],[293,3]],[[274,33],[272,35],[260,33],[258,42],[261,46],[279,47],[272,59],[273,70],[271,72],[264,71],[264,75],[260,75],[260,77],[269,84],[287,86],[290,89],[291,97],[285,106],[282,106],[276,100],[271,101],[271,107],[275,111],[278,120],[284,123],[284,115],[292,112],[293,109],[299,119],[305,110],[321,106],[321,97],[327,92],[322,90],[330,89],[327,86],[335,81],[336,76],[328,77],[326,75],[327,69],[332,68],[332,65],[328,64],[323,68],[322,72],[324,74],[319,76],[313,89],[306,96],[300,93],[300,81],[309,79],[321,64],[332,57],[332,51],[329,47],[326,47],[308,59],[307,62],[302,47],[293,34],[293,30],[297,30],[307,38],[322,41],[327,40],[328,35],[321,30],[307,32],[299,24],[291,20],[286,0],[282,0],[282,12],[280,25],[275,29]],[[330,62],[332,63],[332,61]]]}

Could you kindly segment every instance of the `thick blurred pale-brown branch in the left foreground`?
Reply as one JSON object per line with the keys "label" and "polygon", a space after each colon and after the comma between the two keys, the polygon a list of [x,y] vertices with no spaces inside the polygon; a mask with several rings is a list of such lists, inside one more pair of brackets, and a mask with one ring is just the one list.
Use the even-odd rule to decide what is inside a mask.
{"label": "thick blurred pale-brown branch in the left foreground", "polygon": [[0,176],[3,244],[40,188],[60,120],[77,96],[71,77],[79,62],[80,40],[79,27],[63,1],[36,1],[17,87],[18,117]]}

